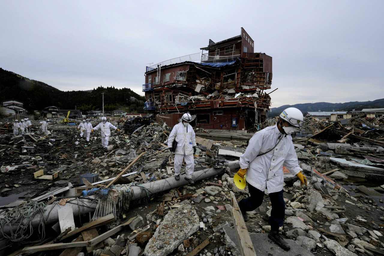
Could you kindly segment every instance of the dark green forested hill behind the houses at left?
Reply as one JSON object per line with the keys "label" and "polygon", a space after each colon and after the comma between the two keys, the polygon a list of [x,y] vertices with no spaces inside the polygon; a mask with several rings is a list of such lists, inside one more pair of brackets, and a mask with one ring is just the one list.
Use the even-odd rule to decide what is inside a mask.
{"label": "dark green forested hill behind the houses at left", "polygon": [[25,108],[42,110],[47,106],[57,106],[62,109],[77,109],[82,111],[101,109],[110,111],[119,106],[136,105],[137,110],[142,110],[145,98],[129,88],[117,89],[114,87],[98,87],[89,91],[60,91],[46,83],[30,80],[11,71],[0,68],[0,101],[20,100]]}

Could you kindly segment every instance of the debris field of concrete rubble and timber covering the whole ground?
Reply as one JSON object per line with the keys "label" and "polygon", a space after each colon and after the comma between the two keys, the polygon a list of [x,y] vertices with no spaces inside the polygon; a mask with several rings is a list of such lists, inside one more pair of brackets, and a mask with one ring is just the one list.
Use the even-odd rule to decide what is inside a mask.
{"label": "debris field of concrete rubble and timber covering the whole ground", "polygon": [[[152,117],[119,121],[111,123],[125,132],[112,132],[108,150],[100,147],[97,131],[87,142],[74,127],[55,123],[48,135],[37,129],[16,137],[0,135],[5,202],[0,215],[33,206],[45,216],[41,221],[36,210],[30,222],[23,219],[28,230],[33,226],[33,236],[23,233],[24,243],[14,241],[12,227],[0,216],[3,255],[241,255],[230,192],[238,201],[248,195],[247,188],[239,190],[233,182],[236,160],[248,143],[197,137],[195,184],[190,186],[173,177],[166,123]],[[247,212],[257,255],[384,254],[384,152],[377,144],[384,135],[383,122],[356,118],[324,124],[320,121],[318,134],[294,138],[308,187],[283,169],[286,218],[280,231],[291,251],[267,238],[268,196],[258,209]],[[47,179],[35,178],[40,170]],[[91,221],[96,207],[102,206],[103,190],[114,193],[116,211]],[[34,243],[25,244],[29,241]]]}

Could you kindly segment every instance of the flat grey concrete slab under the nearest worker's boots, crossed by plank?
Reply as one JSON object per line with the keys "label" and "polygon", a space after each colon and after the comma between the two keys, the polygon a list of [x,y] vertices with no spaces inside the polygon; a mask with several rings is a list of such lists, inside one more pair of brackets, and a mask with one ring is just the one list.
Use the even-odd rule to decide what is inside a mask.
{"label": "flat grey concrete slab under the nearest worker's boots, crossed by plank", "polygon": [[[224,227],[225,231],[225,241],[227,247],[231,248],[232,255],[241,256],[240,251],[238,250],[240,244],[238,242],[237,234],[235,229],[230,228],[229,226]],[[289,251],[284,251],[281,249],[275,242],[271,241],[268,238],[268,234],[262,233],[250,233],[251,241],[255,247],[256,255],[284,255],[284,256],[313,256],[307,249],[302,248],[295,241],[291,239],[284,239],[290,246]]]}

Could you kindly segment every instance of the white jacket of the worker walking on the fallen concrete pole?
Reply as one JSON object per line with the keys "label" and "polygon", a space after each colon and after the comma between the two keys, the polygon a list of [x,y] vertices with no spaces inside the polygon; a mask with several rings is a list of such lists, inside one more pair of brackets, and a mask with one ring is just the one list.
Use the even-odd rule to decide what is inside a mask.
{"label": "white jacket of the worker walking on the fallen concrete pole", "polygon": [[173,141],[177,141],[175,154],[193,155],[193,147],[196,146],[195,131],[191,125],[184,126],[178,123],[173,126],[168,138],[168,148],[172,148]]}

